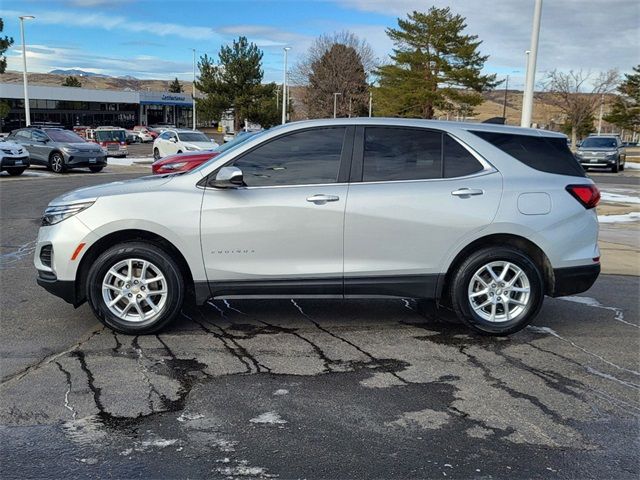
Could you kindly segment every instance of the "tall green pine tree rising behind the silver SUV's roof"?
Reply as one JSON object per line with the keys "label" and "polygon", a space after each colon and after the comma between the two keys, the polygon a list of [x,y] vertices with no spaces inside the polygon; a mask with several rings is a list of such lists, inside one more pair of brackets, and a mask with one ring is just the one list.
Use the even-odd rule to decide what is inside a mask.
{"label": "tall green pine tree rising behind the silver SUV's roof", "polygon": [[481,73],[477,35],[467,35],[465,18],[447,8],[431,7],[398,19],[387,29],[395,48],[393,63],[380,67],[376,109],[381,115],[433,118],[436,111],[471,110],[481,93],[495,87],[495,75]]}

